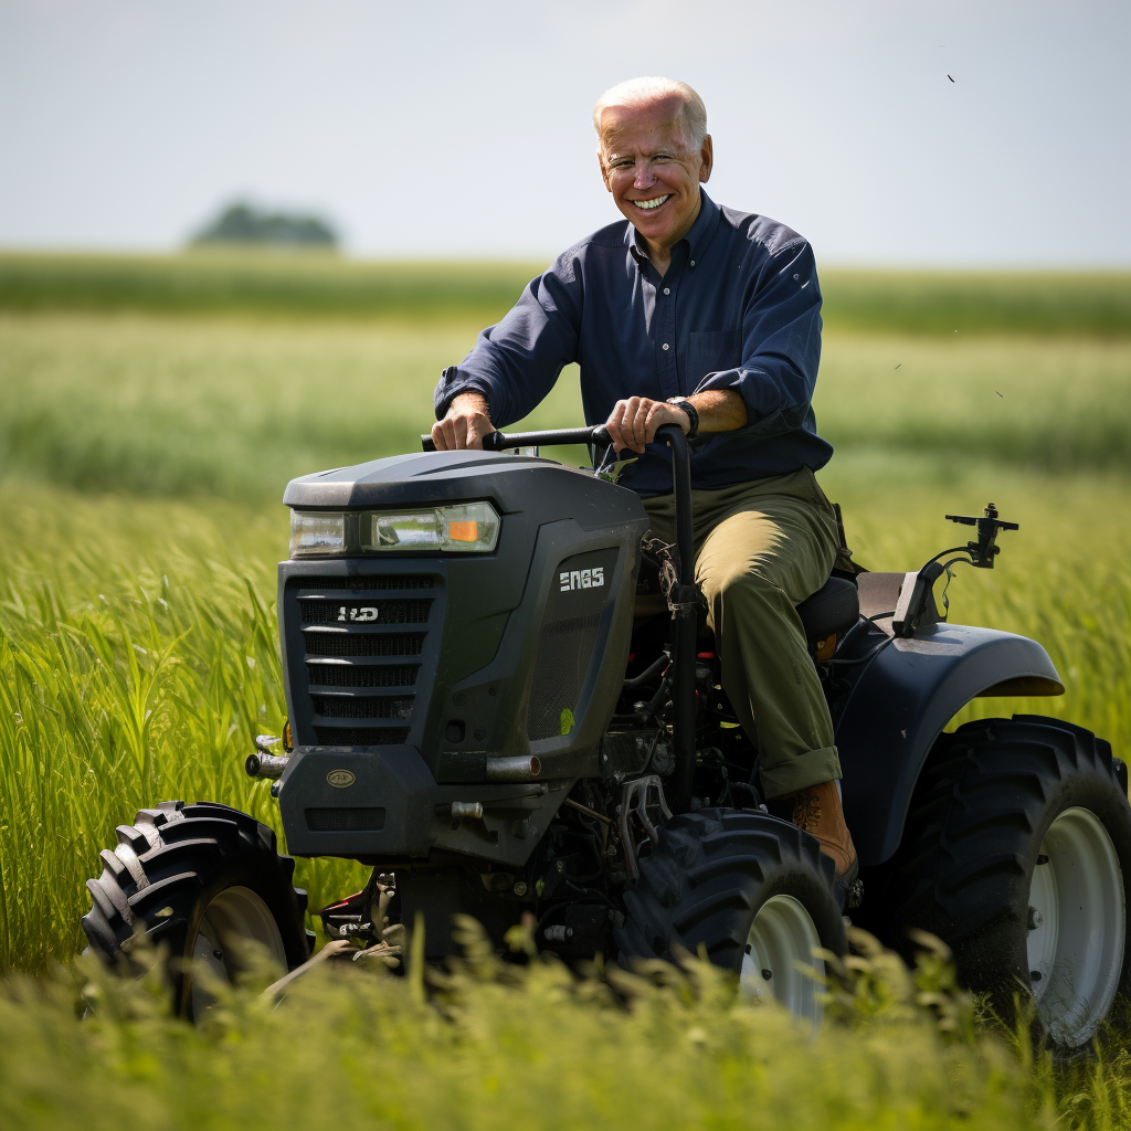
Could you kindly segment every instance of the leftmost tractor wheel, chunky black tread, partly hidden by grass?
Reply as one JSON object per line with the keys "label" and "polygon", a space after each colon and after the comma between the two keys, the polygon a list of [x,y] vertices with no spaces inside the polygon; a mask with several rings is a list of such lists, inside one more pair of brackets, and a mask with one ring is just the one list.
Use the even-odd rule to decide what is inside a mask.
{"label": "leftmost tractor wheel, chunky black tread, partly hidden by grass", "polygon": [[179,1016],[199,1020],[215,1001],[195,984],[195,960],[234,982],[245,970],[249,940],[284,972],[309,957],[305,892],[291,883],[294,861],[278,855],[275,832],[247,813],[166,801],[120,824],[118,845],[101,857],[102,875],[87,881],[92,907],[83,917],[90,949],[129,968],[136,934],[166,948]]}

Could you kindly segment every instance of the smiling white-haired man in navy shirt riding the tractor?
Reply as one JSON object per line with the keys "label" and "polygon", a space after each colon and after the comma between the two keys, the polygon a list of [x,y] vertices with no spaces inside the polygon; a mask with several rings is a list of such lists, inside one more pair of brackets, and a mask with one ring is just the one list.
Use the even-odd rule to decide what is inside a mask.
{"label": "smiling white-haired man in navy shirt riding the tractor", "polygon": [[696,578],[723,684],[758,744],[767,797],[818,837],[847,884],[857,863],[832,723],[795,610],[839,545],[813,474],[832,454],[810,407],[821,347],[813,253],[796,232],[703,191],[714,145],[685,83],[622,83],[593,121],[601,175],[628,223],[559,256],[444,370],[432,437],[440,449],[482,447],[577,362],[586,420],[604,423],[618,451],[648,454],[619,482],[674,542],[671,456],[654,440],[662,424],[683,430]]}

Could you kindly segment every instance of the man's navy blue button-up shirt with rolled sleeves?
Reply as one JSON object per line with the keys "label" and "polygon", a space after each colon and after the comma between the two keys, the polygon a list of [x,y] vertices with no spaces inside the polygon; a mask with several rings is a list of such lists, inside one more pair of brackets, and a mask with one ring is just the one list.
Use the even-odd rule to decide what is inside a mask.
{"label": "man's navy blue button-up shirt with rolled sleeves", "polygon": [[[828,463],[810,402],[821,354],[821,293],[809,244],[706,192],[663,276],[636,228],[611,224],[559,256],[435,390],[437,417],[482,392],[495,428],[529,413],[570,362],[589,424],[621,398],[666,400],[734,389],[748,422],[691,443],[691,485],[714,490]],[[672,490],[671,455],[649,444],[620,478],[641,495]]]}

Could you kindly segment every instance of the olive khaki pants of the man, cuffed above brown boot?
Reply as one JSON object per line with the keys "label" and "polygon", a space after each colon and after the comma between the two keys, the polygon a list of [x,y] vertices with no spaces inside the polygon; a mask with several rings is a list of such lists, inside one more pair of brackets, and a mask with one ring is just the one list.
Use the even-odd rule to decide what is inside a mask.
{"label": "olive khaki pants of the man, cuffed above brown boot", "polygon": [[[672,495],[644,501],[675,541]],[[840,777],[832,720],[795,605],[828,580],[836,513],[806,467],[722,491],[692,491],[696,580],[709,605],[723,689],[757,737],[767,797]]]}

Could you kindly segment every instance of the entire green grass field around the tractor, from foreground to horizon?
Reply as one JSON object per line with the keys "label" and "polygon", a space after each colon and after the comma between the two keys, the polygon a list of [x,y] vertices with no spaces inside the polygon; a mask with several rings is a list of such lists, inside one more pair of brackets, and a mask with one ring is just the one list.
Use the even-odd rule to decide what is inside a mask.
{"label": "entire green grass field around the tractor, from foreground to horizon", "polygon": [[[42,974],[75,956],[84,881],[137,808],[209,798],[277,824],[242,762],[285,710],[283,487],[413,450],[440,370],[535,269],[0,256],[0,972]],[[1128,758],[1131,274],[830,270],[822,284],[815,408],[837,454],[821,482],[856,558],[914,569],[961,539],[944,513],[992,499],[1021,528],[1001,537],[993,572],[958,571],[951,618],[1041,640],[1068,693],[977,700],[961,718],[1056,715]],[[576,423],[573,369],[525,425]],[[316,907],[362,874],[299,864]],[[90,1126],[119,1126],[139,1103],[167,1110],[193,1080],[211,1089],[207,1110],[182,1104],[173,1125],[302,1111],[318,1126],[331,1086],[345,1105],[335,1119],[406,1128],[659,1125],[649,1103],[664,1125],[682,1103],[685,1125],[718,1128],[762,1110],[792,1128],[957,1126],[973,1112],[986,1128],[1125,1126],[1131,1111],[1117,1050],[1051,1076],[994,1038],[941,1036],[890,978],[817,1046],[685,988],[648,999],[630,1024],[552,978],[536,992],[493,978],[468,991],[463,1028],[446,1035],[412,1012],[402,983],[369,996],[326,988],[321,1015],[314,1000],[265,1017],[240,999],[219,1030],[190,1035],[144,995],[72,1026],[70,982],[11,975],[0,1124],[57,1126],[74,1107],[98,1113]],[[264,1050],[299,1044],[322,1051],[274,1093]],[[561,1063],[582,1098],[562,1098],[543,1062]],[[400,1081],[399,1106],[366,1098],[381,1073]],[[625,1085],[640,1073],[650,1093]],[[430,1098],[437,1081],[442,1103]]]}

